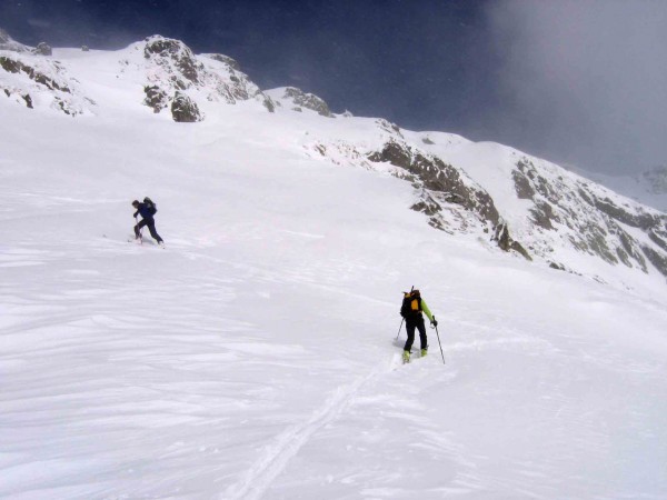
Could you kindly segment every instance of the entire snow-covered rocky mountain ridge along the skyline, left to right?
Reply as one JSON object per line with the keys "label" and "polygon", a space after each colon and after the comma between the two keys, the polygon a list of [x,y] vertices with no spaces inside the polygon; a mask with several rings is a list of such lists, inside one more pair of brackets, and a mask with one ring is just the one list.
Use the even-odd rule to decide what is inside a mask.
{"label": "entire snow-covered rocky mountain ridge along the skyline, left to right", "polygon": [[476,233],[504,250],[570,272],[590,274],[585,261],[594,256],[613,266],[667,277],[665,213],[511,148],[442,132],[411,132],[381,119],[336,116],[325,101],[295,88],[261,91],[231,58],[197,57],[178,40],[149,37],[118,53],[80,52],[69,63],[4,51],[0,87],[29,108],[71,116],[104,112],[86,94],[83,79],[73,77],[72,64],[82,61],[97,61],[100,70],[115,71],[118,80],[135,89],[142,86],[142,99],[133,90],[133,102],[125,106],[143,104],[155,113],[169,108],[175,121],[205,120],[206,103],[250,100],[268,112],[334,118],[336,124],[308,131],[306,153],[312,157],[315,151],[334,162],[345,157],[348,164],[411,182],[411,208],[440,230]]}

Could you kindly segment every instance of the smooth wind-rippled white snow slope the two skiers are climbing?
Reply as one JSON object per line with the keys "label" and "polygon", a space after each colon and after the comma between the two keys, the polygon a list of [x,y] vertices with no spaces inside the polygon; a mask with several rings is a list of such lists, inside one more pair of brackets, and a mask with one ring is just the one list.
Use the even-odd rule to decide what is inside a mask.
{"label": "smooth wind-rippled white snow slope the two skiers are climbing", "polygon": [[[0,99],[1,498],[666,498],[655,276],[527,262],[303,154],[305,130],[372,120],[175,123],[57,56],[93,114]],[[166,249],[127,241],[143,196]],[[436,330],[399,363],[411,286],[446,363]]]}

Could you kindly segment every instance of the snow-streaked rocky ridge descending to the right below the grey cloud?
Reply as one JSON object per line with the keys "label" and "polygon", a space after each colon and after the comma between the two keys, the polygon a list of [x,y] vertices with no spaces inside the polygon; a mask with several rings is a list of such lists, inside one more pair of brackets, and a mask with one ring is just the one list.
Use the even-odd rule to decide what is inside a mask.
{"label": "snow-streaked rocky ridge descending to the right below the grey cloud", "polygon": [[[568,272],[578,272],[567,263],[576,251],[667,277],[667,214],[500,144],[498,150],[480,144],[479,152],[475,143],[451,134],[434,132],[424,140],[424,133],[386,120],[376,120],[376,128],[380,147],[369,147],[366,138],[359,143],[316,140],[306,148],[336,164],[409,181],[415,189],[410,208],[448,233],[476,233],[505,251]],[[464,168],[457,158],[478,158],[477,169],[486,173],[476,177],[478,170]]]}

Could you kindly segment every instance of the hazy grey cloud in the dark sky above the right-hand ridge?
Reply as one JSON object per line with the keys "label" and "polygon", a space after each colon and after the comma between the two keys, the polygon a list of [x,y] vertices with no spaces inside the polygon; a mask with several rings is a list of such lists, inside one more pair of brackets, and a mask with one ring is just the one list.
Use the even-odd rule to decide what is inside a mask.
{"label": "hazy grey cloud in the dark sky above the right-hand ridge", "polygon": [[505,124],[535,152],[610,173],[667,163],[667,2],[506,0],[487,20]]}

